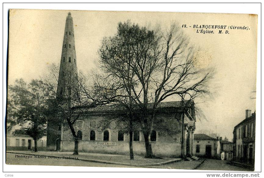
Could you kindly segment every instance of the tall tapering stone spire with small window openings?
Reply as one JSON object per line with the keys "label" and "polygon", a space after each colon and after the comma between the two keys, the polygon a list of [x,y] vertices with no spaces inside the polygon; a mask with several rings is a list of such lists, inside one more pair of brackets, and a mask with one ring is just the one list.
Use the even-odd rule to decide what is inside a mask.
{"label": "tall tapering stone spire with small window openings", "polygon": [[78,71],[74,42],[73,18],[69,12],[65,23],[56,98],[73,96],[75,93],[72,90],[77,85]]}

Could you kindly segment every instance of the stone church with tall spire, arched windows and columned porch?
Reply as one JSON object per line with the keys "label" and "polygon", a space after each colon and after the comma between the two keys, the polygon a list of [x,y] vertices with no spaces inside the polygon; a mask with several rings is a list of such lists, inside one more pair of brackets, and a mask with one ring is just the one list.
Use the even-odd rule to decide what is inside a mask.
{"label": "stone church with tall spire, arched windows and columned porch", "polygon": [[[74,75],[72,81],[65,81],[66,74]],[[77,85],[77,58],[75,51],[73,18],[68,13],[62,45],[59,80],[56,99],[62,95],[69,97],[74,93],[65,91],[67,83]],[[76,93],[75,93],[76,94]],[[79,138],[79,152],[109,154],[129,154],[129,134],[122,128],[111,127],[100,130],[100,122],[115,113],[114,106],[96,106],[87,109],[75,122],[74,129]],[[63,118],[63,117],[62,117]],[[155,156],[191,157],[193,153],[193,132],[195,130],[195,110],[193,101],[174,101],[159,103],[156,118],[165,120],[172,131],[161,130],[154,123],[148,138]],[[74,150],[74,139],[68,126],[50,118],[47,127],[47,150],[69,152]],[[135,155],[145,154],[144,136],[140,129],[133,132],[133,150]]]}

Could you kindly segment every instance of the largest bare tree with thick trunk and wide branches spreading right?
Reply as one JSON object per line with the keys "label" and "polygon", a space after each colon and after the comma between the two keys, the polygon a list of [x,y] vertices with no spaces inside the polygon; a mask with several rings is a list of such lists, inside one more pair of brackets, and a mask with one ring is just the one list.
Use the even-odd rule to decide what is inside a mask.
{"label": "largest bare tree with thick trunk and wide branches spreading right", "polygon": [[140,110],[147,158],[153,156],[148,138],[159,103],[172,96],[193,101],[209,94],[212,71],[195,67],[196,50],[176,25],[160,33],[119,23],[117,34],[103,40],[99,57],[105,72],[127,87],[126,94]]}

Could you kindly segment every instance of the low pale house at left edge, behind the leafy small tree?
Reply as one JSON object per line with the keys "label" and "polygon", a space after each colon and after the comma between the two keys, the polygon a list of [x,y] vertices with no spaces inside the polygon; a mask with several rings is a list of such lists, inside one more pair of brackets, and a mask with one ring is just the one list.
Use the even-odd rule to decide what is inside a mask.
{"label": "low pale house at left edge, behind the leafy small tree", "polygon": [[[23,130],[21,130],[20,125],[10,126],[10,123],[7,123],[6,134],[6,150],[34,150],[34,139],[27,135]],[[47,136],[43,136],[37,141],[38,150],[46,150],[46,141]]]}

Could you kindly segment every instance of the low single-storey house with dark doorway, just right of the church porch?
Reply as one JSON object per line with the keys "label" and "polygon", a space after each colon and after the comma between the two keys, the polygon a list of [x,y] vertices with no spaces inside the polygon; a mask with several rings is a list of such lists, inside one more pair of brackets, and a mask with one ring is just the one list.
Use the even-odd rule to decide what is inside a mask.
{"label": "low single-storey house with dark doorway, just right of the church porch", "polygon": [[218,158],[220,153],[220,142],[206,134],[194,134],[193,154],[198,157]]}

